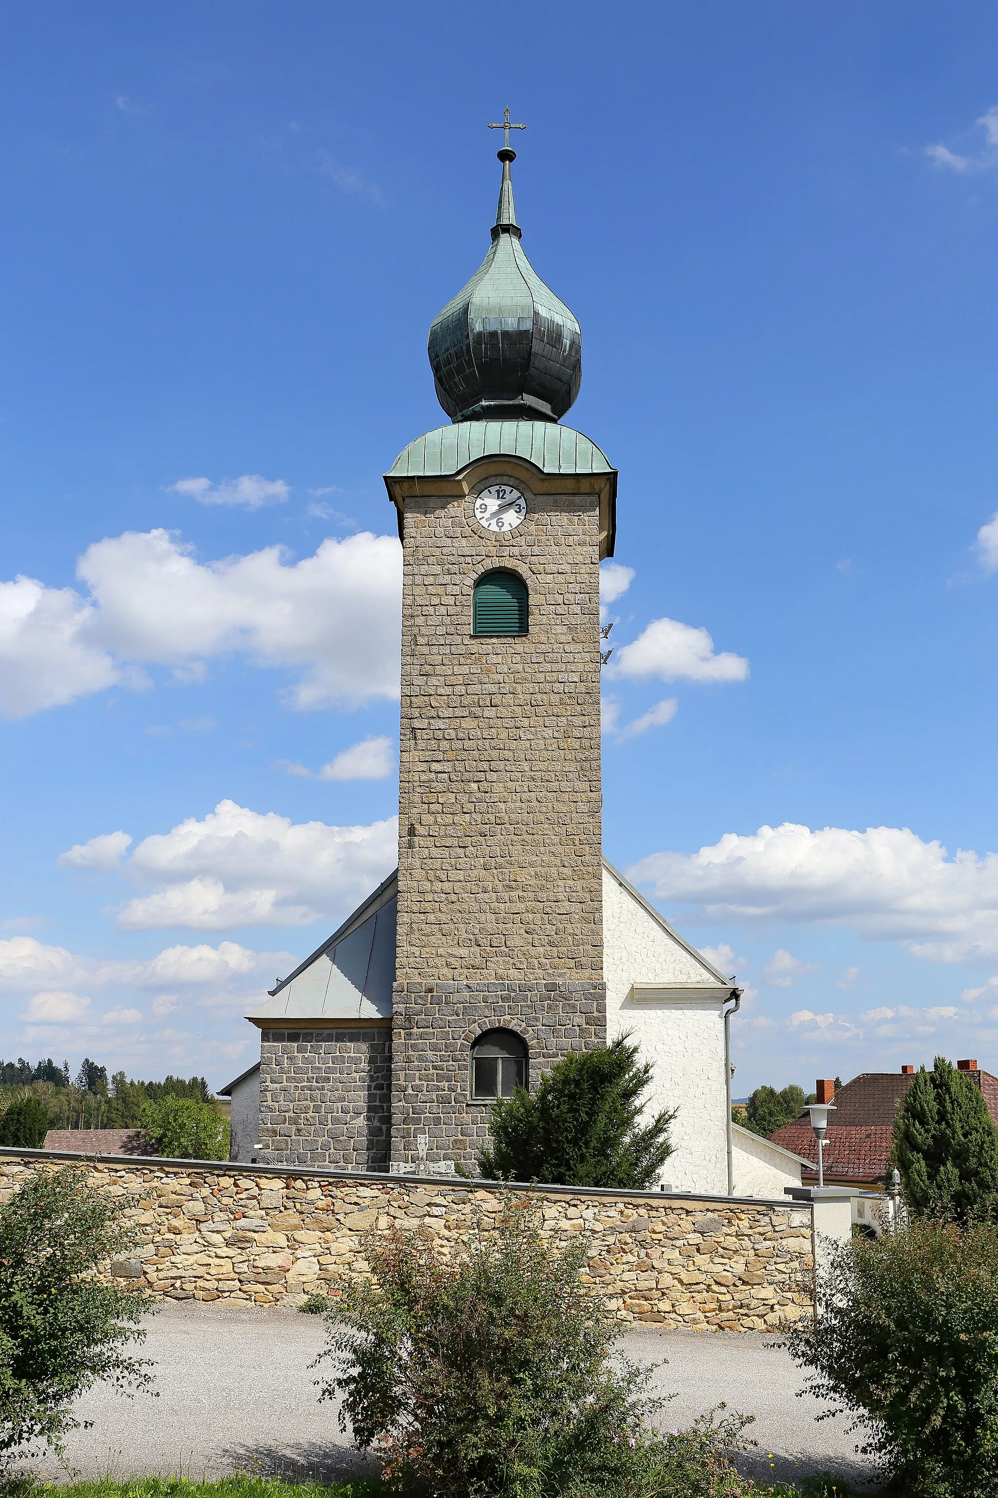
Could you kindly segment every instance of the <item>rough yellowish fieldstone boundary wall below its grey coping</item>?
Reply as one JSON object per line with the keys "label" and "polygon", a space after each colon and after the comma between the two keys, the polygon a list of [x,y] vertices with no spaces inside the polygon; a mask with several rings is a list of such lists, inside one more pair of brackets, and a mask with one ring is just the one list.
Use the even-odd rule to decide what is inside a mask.
{"label": "rough yellowish fieldstone boundary wall below its grey coping", "polygon": [[[141,1234],[112,1273],[172,1300],[298,1303],[368,1276],[368,1233],[425,1228],[459,1252],[476,1219],[515,1188],[260,1167],[57,1156],[0,1150],[0,1201],[36,1170],[72,1164],[126,1206]],[[590,1234],[582,1278],[622,1321],[711,1330],[771,1330],[809,1305],[795,1288],[809,1272],[809,1206],[696,1200],[642,1192],[528,1188],[545,1231]]]}

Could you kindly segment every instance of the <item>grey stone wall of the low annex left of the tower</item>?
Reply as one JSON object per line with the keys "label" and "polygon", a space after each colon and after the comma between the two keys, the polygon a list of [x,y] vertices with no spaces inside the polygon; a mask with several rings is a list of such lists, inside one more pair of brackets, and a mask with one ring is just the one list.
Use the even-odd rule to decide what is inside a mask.
{"label": "grey stone wall of the low annex left of the tower", "polygon": [[391,1137],[388,1026],[262,1031],[260,1164],[373,1170]]}

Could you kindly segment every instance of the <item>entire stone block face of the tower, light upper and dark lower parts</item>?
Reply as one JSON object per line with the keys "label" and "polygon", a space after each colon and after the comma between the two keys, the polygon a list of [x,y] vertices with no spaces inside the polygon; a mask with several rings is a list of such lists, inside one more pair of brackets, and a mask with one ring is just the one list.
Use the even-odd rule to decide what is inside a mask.
{"label": "entire stone block face of the tower, light upper and dark lower parts", "polygon": [[[527,499],[501,535],[474,520],[497,482]],[[591,475],[557,485],[494,455],[449,493],[404,499],[398,1164],[416,1161],[419,1134],[429,1162],[470,1162],[485,1141],[488,1104],[468,1095],[476,1035],[519,1034],[531,1085],[606,1038],[600,497]],[[474,584],[497,568],[527,583],[525,635],[473,634]]]}

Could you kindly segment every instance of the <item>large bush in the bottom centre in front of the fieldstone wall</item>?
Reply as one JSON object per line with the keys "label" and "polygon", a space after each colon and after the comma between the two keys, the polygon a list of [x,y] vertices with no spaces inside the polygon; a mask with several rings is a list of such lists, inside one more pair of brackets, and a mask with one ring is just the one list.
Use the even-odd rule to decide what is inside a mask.
{"label": "large bush in the bottom centre in front of the fieldstone wall", "polygon": [[540,1207],[507,1203],[473,1246],[426,1233],[370,1237],[374,1282],[346,1281],[326,1314],[340,1428],[385,1480],[434,1498],[714,1498],[750,1489],[730,1464],[745,1420],[660,1437],[651,1369],[616,1356],[621,1326],[579,1279],[587,1245],[552,1246]]}

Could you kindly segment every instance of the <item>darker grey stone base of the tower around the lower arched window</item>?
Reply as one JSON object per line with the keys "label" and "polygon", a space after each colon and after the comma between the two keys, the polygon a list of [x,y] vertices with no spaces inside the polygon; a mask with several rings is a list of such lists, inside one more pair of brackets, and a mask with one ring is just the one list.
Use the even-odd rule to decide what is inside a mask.
{"label": "darker grey stone base of the tower around the lower arched window", "polygon": [[392,1056],[392,1161],[453,1159],[467,1168],[489,1137],[489,1104],[470,1091],[471,1043],[494,1026],[527,1041],[534,1088],[570,1050],[599,1046],[606,1035],[601,983],[397,983]]}

